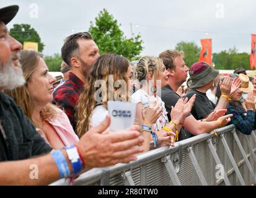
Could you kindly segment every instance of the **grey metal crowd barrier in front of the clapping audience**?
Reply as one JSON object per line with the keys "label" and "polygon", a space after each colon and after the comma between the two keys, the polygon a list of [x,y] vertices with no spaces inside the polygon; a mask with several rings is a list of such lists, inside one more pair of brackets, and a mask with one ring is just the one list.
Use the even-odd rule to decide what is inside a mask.
{"label": "grey metal crowd barrier in front of the clapping audience", "polygon": [[[224,137],[224,134],[226,134],[226,132],[228,134],[232,135],[231,134],[232,129],[236,129],[233,124],[231,124],[229,126],[226,126],[226,127],[223,127],[223,128],[220,128],[220,129],[216,129],[216,132],[217,132],[219,137]],[[120,163],[120,164],[115,165],[115,166],[105,167],[105,168],[107,168],[107,170],[105,170],[105,171],[104,171],[104,168],[95,168],[95,171],[87,171],[86,173],[81,174],[81,176],[79,176],[79,178],[77,178],[76,181],[74,182],[74,185],[88,185],[88,184],[89,185],[92,185],[92,184],[98,184],[98,185],[99,184],[102,184],[102,185],[103,184],[104,185],[108,184],[109,185],[110,184],[110,178],[112,176],[120,176],[120,175],[123,176],[123,181],[125,181],[126,184],[128,184],[128,185],[135,184],[135,182],[133,181],[133,178],[131,176],[131,174],[132,174],[131,167],[140,168],[140,170],[139,170],[140,184],[141,185],[146,185],[146,183],[149,182],[149,181],[147,181],[147,171],[148,170],[146,170],[146,167],[147,167],[146,165],[151,163],[151,161],[154,161],[154,160],[157,160],[157,159],[160,160],[163,157],[165,158],[165,157],[170,156],[170,155],[172,156],[173,153],[175,153],[175,159],[179,158],[179,161],[172,161],[173,159],[171,157],[169,157],[169,159],[166,160],[165,165],[166,165],[166,168],[168,167],[167,171],[168,171],[169,176],[170,176],[170,181],[169,182],[170,182],[170,184],[181,185],[179,176],[177,175],[177,171],[179,171],[179,166],[177,166],[177,165],[182,164],[182,157],[180,157],[180,155],[178,156],[177,152],[178,151],[181,152],[183,150],[183,148],[192,147],[192,145],[199,144],[200,142],[205,142],[205,140],[211,139],[213,137],[214,137],[213,133],[201,134],[201,135],[192,137],[190,139],[186,139],[186,140],[182,140],[180,142],[176,142],[175,147],[170,147],[170,148],[169,147],[161,147],[159,149],[151,150],[151,151],[146,152],[146,153],[141,153],[140,155],[138,155],[137,160],[131,161],[128,164],[121,164]],[[240,148],[237,148],[236,150],[234,150],[234,153],[231,153],[231,150],[229,149],[229,146],[227,145],[225,137],[224,137],[224,139],[221,138],[222,144],[224,145],[224,151],[225,151],[224,155],[227,156],[229,158],[229,160],[231,161],[231,164],[232,164],[231,170],[233,172],[236,172],[237,178],[239,179],[239,183],[241,183],[241,185],[245,185],[244,178],[243,178],[244,175],[242,176],[241,172],[239,171],[240,162],[237,165],[236,161],[234,160],[234,156],[236,156],[234,154],[239,152]],[[252,141],[250,141],[250,137],[252,138]],[[252,132],[252,136],[250,136],[250,137],[245,137],[245,140],[247,141],[247,138],[248,138],[248,141],[250,142],[250,144],[248,144],[248,141],[246,143],[249,146],[249,155],[246,155],[246,158],[244,158],[244,156],[243,156],[243,158],[241,160],[243,161],[242,163],[244,163],[244,162],[246,163],[246,160],[249,161],[249,157],[252,155],[252,158],[254,158],[254,160],[251,161],[252,164],[250,164],[249,166],[254,167],[253,165],[255,165],[255,162],[256,162],[256,160],[255,160],[256,159],[255,158],[256,157],[256,155],[255,155],[256,148],[255,148],[255,144],[254,144],[254,142],[256,143],[255,131]],[[239,137],[237,137],[237,138],[239,138]],[[213,139],[212,139],[212,141],[213,141]],[[225,142],[226,142],[226,144],[225,144]],[[234,142],[237,145],[237,142],[236,141],[234,141]],[[213,142],[211,142],[211,143],[213,144]],[[244,149],[244,148],[245,147],[242,147],[242,149]],[[190,148],[190,149],[192,149],[192,148]],[[213,144],[212,149],[214,149],[214,152],[216,153],[216,149],[214,147],[214,144]],[[192,152],[193,152],[193,150],[192,150]],[[213,154],[213,152],[211,152],[211,153]],[[192,164],[193,164],[193,168],[195,168],[195,170],[196,170],[196,174],[198,175],[198,174],[200,174],[200,171],[201,171],[200,168],[203,168],[203,167],[200,167],[198,165],[199,161],[197,160],[195,154],[196,153],[193,152],[193,154],[190,154],[190,155],[194,155],[194,157],[195,157],[194,162],[195,162],[195,164],[197,164],[197,167],[199,168],[199,171],[196,170],[196,168],[195,168],[196,165],[193,164],[193,161],[192,161]],[[189,157],[190,157],[190,155],[189,155]],[[216,153],[216,155],[219,158],[218,153]],[[191,156],[190,160],[191,160],[191,158],[193,158],[193,157]],[[214,163],[216,162],[216,159],[214,158],[214,155],[213,155],[213,157],[211,157],[211,161],[212,162],[214,161]],[[214,163],[213,163],[213,166],[214,166]],[[176,167],[175,167],[175,165],[176,165]],[[177,167],[178,167],[178,170],[177,170]],[[158,168],[158,166],[157,166],[157,168]],[[211,166],[211,170],[213,170],[213,168],[214,167]],[[249,170],[249,169],[246,168],[246,170]],[[130,176],[128,175],[128,177],[127,177],[125,172],[128,171],[128,170],[130,172],[129,173]],[[226,172],[227,172],[227,174],[226,174],[227,179],[229,179],[229,183],[231,183],[231,180],[229,178],[229,175],[230,175],[229,173],[231,173],[231,172],[230,172],[230,170],[229,171],[225,170],[225,173]],[[208,183],[206,182],[206,178],[203,176],[202,171],[201,171],[201,176],[203,178],[203,179],[202,178],[201,179],[205,180],[204,184],[208,185]],[[200,176],[198,176],[198,179],[200,179]],[[201,179],[200,179],[200,182],[201,182]],[[212,179],[214,179],[213,172],[211,173],[211,180]],[[219,180],[219,181],[221,181],[221,180]],[[223,179],[223,181],[224,181],[224,179]],[[237,184],[236,181],[234,181],[234,183]],[[55,183],[53,183],[53,185],[63,185],[63,184],[64,183],[61,180],[56,181]],[[114,181],[113,184],[114,185],[116,184],[115,181]],[[201,184],[203,185],[202,182],[201,182]],[[212,183],[212,184],[214,184],[214,183]]]}

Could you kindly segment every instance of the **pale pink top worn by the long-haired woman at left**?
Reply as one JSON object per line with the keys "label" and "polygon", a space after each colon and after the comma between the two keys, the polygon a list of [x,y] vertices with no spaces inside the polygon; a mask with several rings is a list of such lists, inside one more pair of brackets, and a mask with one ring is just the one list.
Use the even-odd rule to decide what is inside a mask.
{"label": "pale pink top worn by the long-haired woman at left", "polygon": [[[68,119],[68,116],[64,113],[64,111],[60,110],[59,108],[55,108],[55,111],[56,119],[48,120],[48,122],[55,129],[56,133],[58,134],[64,145],[72,145],[78,142],[79,138],[76,136],[73,127],[71,126],[70,121]],[[42,136],[43,139],[45,139],[45,142],[49,144],[42,130],[37,129],[37,131],[39,132],[40,136]]]}

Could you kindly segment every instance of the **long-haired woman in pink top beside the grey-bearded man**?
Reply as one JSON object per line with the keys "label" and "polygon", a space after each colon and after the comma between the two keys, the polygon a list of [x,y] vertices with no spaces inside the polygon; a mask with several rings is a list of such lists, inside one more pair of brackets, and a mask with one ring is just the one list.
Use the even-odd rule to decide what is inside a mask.
{"label": "long-haired woman in pink top beside the grey-bearded man", "polygon": [[22,107],[25,115],[53,149],[75,144],[79,139],[68,117],[50,103],[53,99],[53,82],[56,79],[49,74],[45,61],[35,51],[22,50],[20,57],[26,84],[4,92]]}

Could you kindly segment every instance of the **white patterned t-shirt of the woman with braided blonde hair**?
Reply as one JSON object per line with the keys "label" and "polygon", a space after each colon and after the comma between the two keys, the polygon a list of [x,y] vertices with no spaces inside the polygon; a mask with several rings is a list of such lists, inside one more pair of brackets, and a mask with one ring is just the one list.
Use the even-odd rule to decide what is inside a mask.
{"label": "white patterned t-shirt of the woman with braided blonde hair", "polygon": [[[146,93],[143,89],[137,90],[133,95],[131,95],[131,101],[133,103],[142,103],[144,107],[149,106],[149,95]],[[154,132],[160,131],[162,127],[166,126],[166,124],[169,123],[168,117],[167,117],[167,111],[166,107],[164,106],[164,101],[158,96],[156,96],[158,103],[162,107],[162,114],[161,116],[157,119],[156,124],[153,124],[154,127]]]}

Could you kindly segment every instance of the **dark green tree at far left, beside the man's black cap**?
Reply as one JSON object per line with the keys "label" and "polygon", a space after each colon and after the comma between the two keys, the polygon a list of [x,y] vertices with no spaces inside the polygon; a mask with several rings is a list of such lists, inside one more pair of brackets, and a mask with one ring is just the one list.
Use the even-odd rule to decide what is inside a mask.
{"label": "dark green tree at far left, beside the man's black cap", "polygon": [[14,27],[10,29],[10,35],[20,41],[22,45],[24,44],[24,41],[37,42],[38,51],[40,52],[43,51],[45,46],[37,31],[29,24],[14,24]]}

